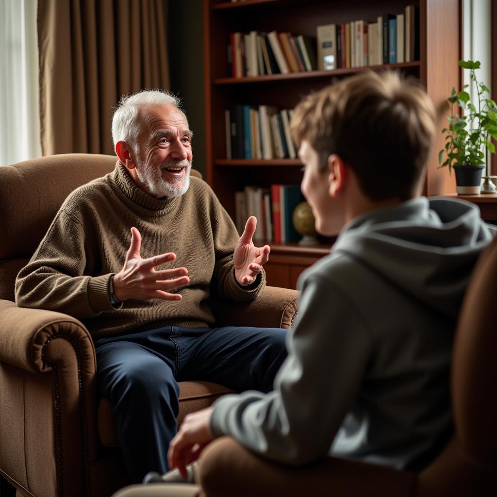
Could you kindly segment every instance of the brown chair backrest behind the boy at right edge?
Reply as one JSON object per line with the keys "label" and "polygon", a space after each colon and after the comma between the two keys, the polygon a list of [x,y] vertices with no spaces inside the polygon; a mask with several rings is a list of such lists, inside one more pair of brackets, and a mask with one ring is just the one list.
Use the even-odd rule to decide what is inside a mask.
{"label": "brown chair backrest behind the boy at right edge", "polygon": [[473,273],[453,352],[456,439],[475,462],[497,469],[497,239]]}

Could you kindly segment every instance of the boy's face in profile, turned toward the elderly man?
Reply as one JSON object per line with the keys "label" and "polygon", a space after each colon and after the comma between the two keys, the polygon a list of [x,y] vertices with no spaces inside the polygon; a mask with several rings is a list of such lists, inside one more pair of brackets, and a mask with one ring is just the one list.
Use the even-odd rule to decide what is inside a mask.
{"label": "boy's face in profile, turned toward the elderly man", "polygon": [[334,202],[330,196],[330,171],[325,164],[320,164],[318,153],[307,140],[300,145],[299,157],[305,167],[300,189],[311,206],[316,230],[321,235],[335,235],[336,229],[331,226]]}

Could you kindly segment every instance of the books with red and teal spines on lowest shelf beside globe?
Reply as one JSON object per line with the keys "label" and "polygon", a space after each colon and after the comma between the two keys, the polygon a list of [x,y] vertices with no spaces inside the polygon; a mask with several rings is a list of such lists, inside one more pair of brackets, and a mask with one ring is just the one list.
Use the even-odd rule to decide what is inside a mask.
{"label": "books with red and teal spines on lowest shelf beside globe", "polygon": [[237,230],[243,233],[248,217],[255,216],[257,228],[253,240],[275,244],[297,242],[301,237],[295,231],[292,216],[302,200],[299,185],[246,186],[244,191],[235,192]]}

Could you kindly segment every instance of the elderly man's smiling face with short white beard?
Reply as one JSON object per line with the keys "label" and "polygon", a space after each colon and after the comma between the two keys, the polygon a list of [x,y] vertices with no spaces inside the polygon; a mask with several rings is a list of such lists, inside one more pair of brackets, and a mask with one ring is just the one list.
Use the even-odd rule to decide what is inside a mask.
{"label": "elderly man's smiling face with short white beard", "polygon": [[136,173],[157,198],[177,197],[188,189],[192,161],[191,136],[183,114],[170,104],[141,112]]}

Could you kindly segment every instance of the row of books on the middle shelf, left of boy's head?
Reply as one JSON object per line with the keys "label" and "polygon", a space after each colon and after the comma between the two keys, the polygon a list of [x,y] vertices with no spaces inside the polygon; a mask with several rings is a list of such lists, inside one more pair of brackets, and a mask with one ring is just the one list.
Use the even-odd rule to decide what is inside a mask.
{"label": "row of books on the middle shelf, left of boy's head", "polygon": [[225,111],[227,159],[295,159],[290,136],[293,110],[234,104]]}

